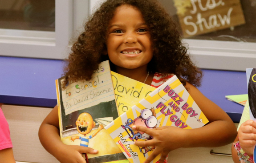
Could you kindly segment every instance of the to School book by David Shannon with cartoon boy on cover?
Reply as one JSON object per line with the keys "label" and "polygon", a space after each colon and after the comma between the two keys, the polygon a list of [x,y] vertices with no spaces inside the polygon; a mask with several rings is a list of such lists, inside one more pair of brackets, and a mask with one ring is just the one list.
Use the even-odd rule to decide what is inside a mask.
{"label": "to School book by David Shannon with cartoon boy on cover", "polygon": [[89,81],[68,83],[56,80],[61,140],[65,144],[97,149],[87,154],[89,163],[128,163],[104,128],[118,117],[109,61],[99,64]]}

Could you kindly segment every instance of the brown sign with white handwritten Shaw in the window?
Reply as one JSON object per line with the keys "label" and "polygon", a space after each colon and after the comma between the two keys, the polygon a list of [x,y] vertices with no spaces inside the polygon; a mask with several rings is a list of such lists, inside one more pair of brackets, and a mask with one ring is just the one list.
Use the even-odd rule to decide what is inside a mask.
{"label": "brown sign with white handwritten Shaw in the window", "polygon": [[174,0],[183,37],[245,24],[240,0]]}

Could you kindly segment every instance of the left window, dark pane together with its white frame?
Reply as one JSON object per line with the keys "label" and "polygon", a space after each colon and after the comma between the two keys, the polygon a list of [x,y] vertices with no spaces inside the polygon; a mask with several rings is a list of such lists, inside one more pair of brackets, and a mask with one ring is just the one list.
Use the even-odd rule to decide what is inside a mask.
{"label": "left window, dark pane together with its white frame", "polygon": [[64,59],[88,8],[88,0],[1,0],[0,55]]}

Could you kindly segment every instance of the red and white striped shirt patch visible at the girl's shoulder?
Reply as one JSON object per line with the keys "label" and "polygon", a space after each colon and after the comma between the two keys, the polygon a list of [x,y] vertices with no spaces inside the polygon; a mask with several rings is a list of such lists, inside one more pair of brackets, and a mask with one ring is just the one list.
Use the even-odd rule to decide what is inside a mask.
{"label": "red and white striped shirt patch visible at the girl's shoulder", "polygon": [[170,79],[172,76],[174,76],[174,74],[155,72],[151,86],[157,88],[164,82],[166,82],[168,79]]}

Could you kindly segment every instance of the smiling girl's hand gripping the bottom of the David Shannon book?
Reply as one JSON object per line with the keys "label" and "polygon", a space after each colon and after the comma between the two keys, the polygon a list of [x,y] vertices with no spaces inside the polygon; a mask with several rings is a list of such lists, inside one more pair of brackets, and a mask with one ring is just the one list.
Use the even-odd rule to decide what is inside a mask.
{"label": "smiling girl's hand gripping the bottom of the David Shannon book", "polygon": [[81,154],[89,153],[89,154],[97,154],[98,150],[93,150],[93,148],[82,147],[77,145],[66,145],[63,144],[63,147],[58,150],[58,155],[55,157],[61,163],[86,163],[85,159]]}

